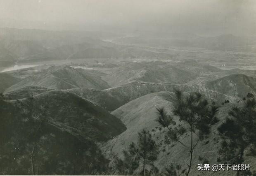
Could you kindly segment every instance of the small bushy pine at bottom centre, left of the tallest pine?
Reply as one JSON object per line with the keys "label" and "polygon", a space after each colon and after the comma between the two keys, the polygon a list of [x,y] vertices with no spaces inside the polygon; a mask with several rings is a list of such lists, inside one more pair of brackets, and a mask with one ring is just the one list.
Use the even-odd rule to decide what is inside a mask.
{"label": "small bushy pine at bottom centre, left of the tallest pine", "polygon": [[142,160],[142,173],[145,175],[146,164],[150,164],[155,161],[157,159],[157,155],[159,154],[158,146],[152,139],[152,135],[149,133],[149,131],[142,130],[142,132],[138,133],[137,143],[131,143],[129,148],[137,154],[140,160]]}

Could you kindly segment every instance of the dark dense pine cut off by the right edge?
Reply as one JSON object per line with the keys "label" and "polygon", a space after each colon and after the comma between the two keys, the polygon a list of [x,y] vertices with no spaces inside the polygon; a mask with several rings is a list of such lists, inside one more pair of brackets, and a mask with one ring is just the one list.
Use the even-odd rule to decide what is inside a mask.
{"label": "dark dense pine cut off by the right edge", "polygon": [[223,138],[218,151],[222,161],[242,164],[245,149],[256,146],[256,99],[250,96],[243,103],[242,107],[233,106],[229,117],[218,127]]}

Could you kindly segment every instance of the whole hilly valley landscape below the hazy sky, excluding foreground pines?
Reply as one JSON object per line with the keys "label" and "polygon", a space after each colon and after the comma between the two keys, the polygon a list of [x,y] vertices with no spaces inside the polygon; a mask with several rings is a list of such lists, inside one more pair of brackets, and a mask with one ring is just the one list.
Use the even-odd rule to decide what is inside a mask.
{"label": "whole hilly valley landscape below the hazy sky, excluding foreground pines", "polygon": [[[164,172],[171,163],[180,164],[180,171],[185,171],[187,149],[177,142],[165,144],[168,130],[156,121],[156,108],[164,107],[172,114],[175,90],[182,90],[201,93],[209,104],[218,106],[218,122],[194,150],[190,175],[197,176],[198,158],[217,163],[221,141],[217,128],[229,117],[228,111],[234,105],[241,107],[248,95],[256,96],[256,53],[244,45],[247,38],[189,35],[184,39],[180,34],[176,39],[143,35],[106,39],[90,32],[30,32],[0,29],[1,122],[6,124],[2,133],[9,136],[1,139],[0,147],[7,159],[15,153],[8,146],[21,148],[15,154],[17,161],[8,162],[8,167],[18,164],[18,169],[10,173],[1,165],[4,174],[31,174],[29,151],[36,144],[39,174],[119,175],[114,156],[124,159],[123,150],[128,150],[142,130],[149,131],[159,147],[154,162],[159,171]],[[240,40],[239,47],[233,45]],[[255,39],[249,42],[256,44]],[[184,125],[178,116],[174,121]],[[43,125],[40,132],[33,131],[39,136],[37,141],[26,139],[28,129],[37,124]],[[14,132],[10,132],[12,126]],[[188,132],[180,138],[189,144]],[[254,166],[256,157],[249,148],[245,153],[244,162]],[[40,166],[40,162],[44,164]],[[53,163],[58,167],[51,166]],[[140,171],[137,167],[134,174]]]}

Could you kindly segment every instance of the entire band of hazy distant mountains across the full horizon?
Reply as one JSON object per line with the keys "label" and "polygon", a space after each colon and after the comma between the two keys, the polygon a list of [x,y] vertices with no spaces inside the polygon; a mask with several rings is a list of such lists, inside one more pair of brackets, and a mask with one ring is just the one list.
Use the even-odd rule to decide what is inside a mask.
{"label": "entire band of hazy distant mountains across the full horizon", "polygon": [[189,33],[176,33],[164,36],[118,37],[114,40],[116,43],[114,44],[104,42],[102,36],[94,34],[93,32],[79,31],[0,28],[0,64],[5,67],[14,65],[16,62],[28,63],[77,58],[173,57],[168,53],[149,51],[134,45],[256,52],[255,37],[233,35],[200,37]]}

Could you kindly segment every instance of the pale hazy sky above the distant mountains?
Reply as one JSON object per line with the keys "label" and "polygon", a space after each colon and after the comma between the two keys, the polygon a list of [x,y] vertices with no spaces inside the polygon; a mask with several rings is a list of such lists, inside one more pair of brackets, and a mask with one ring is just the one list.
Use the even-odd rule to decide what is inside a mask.
{"label": "pale hazy sky above the distant mountains", "polygon": [[0,0],[0,27],[256,35],[256,0]]}

